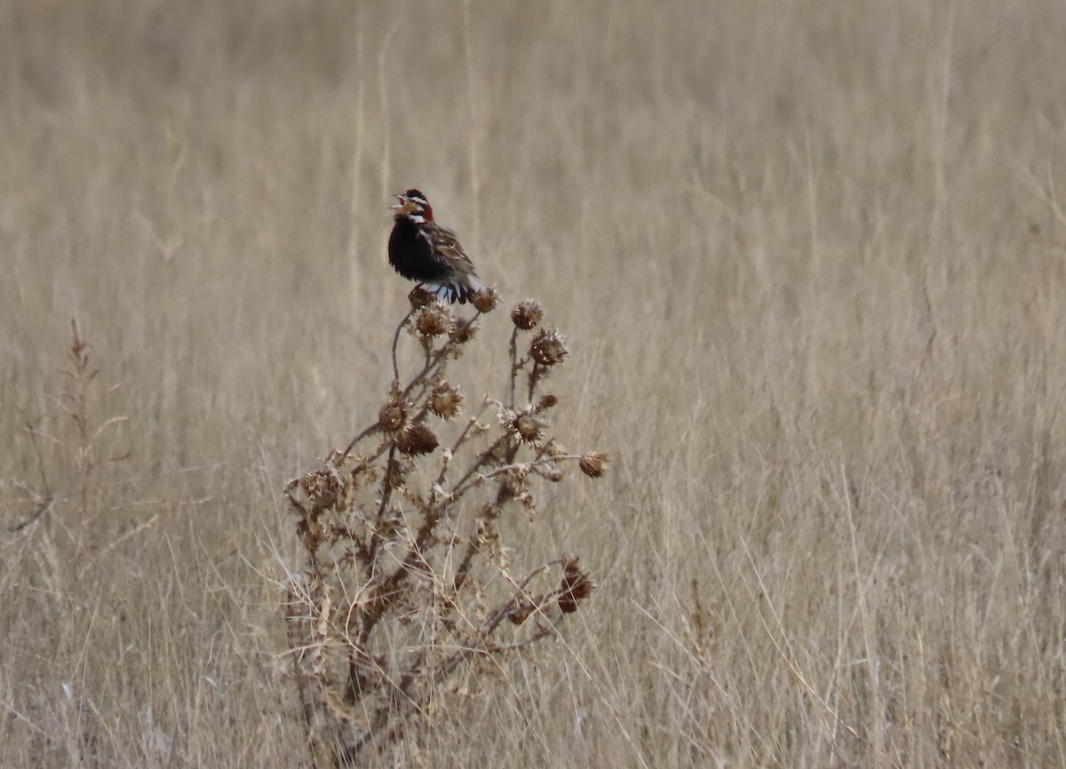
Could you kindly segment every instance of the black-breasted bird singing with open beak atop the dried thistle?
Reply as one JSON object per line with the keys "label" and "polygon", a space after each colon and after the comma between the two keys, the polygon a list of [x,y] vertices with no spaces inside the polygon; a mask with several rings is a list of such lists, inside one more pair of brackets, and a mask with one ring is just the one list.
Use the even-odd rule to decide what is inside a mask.
{"label": "black-breasted bird singing with open beak atop the dried thistle", "polygon": [[397,195],[400,202],[389,235],[389,264],[408,280],[425,283],[438,298],[465,305],[484,287],[478,282],[459,239],[433,220],[433,207],[418,190]]}

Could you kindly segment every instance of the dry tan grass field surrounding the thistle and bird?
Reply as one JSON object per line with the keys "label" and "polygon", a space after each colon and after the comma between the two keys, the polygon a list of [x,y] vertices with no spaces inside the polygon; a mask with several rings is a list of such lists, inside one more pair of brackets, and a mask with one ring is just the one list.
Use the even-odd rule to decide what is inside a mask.
{"label": "dry tan grass field surrounding the thistle and bird", "polygon": [[566,333],[556,433],[612,461],[511,524],[589,604],[367,766],[1066,766],[1064,39],[1053,0],[4,2],[0,766],[309,766],[281,491],[377,419],[408,186]]}

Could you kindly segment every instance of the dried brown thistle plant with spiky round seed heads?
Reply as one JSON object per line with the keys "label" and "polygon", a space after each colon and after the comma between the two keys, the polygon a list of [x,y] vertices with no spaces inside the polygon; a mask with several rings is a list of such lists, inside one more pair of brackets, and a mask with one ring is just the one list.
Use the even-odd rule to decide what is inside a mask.
{"label": "dried brown thistle plant with spiky round seed heads", "polygon": [[[516,512],[535,523],[538,484],[563,480],[567,464],[594,478],[604,470],[604,455],[569,454],[549,435],[558,398],[538,388],[569,354],[564,338],[535,300],[518,305],[508,396],[486,397],[464,422],[449,366],[499,299],[481,292],[469,320],[421,288],[409,299],[377,421],[286,488],[304,554],[288,582],[289,640],[318,764],[351,765],[438,718],[456,673],[484,681],[593,590],[576,555],[516,574],[504,543]],[[404,332],[421,351],[406,382]]]}

